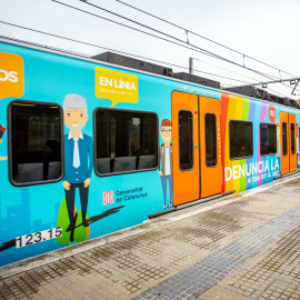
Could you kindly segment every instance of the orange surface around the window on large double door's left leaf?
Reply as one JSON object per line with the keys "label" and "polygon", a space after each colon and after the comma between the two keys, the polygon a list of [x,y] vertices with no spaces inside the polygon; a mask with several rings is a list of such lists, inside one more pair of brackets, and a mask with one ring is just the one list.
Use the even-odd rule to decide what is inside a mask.
{"label": "orange surface around the window on large double door's left leaf", "polygon": [[[179,162],[179,112],[192,112],[193,167],[181,171]],[[199,199],[198,96],[172,92],[173,206]]]}

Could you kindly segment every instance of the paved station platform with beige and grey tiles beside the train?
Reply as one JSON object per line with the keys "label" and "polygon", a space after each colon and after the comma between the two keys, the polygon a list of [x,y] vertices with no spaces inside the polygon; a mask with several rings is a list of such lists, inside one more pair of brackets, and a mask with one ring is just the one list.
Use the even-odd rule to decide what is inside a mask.
{"label": "paved station platform with beige and grey tiles beside the train", "polygon": [[[32,269],[0,299],[300,299],[300,178],[162,216]],[[84,248],[82,248],[84,249]]]}

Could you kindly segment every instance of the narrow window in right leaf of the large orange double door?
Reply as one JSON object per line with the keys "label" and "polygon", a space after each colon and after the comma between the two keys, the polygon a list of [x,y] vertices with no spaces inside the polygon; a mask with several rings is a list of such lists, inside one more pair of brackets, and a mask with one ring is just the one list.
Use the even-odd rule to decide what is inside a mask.
{"label": "narrow window in right leaf of the large orange double door", "polygon": [[216,114],[207,113],[206,122],[206,162],[207,167],[217,166],[217,119]]}

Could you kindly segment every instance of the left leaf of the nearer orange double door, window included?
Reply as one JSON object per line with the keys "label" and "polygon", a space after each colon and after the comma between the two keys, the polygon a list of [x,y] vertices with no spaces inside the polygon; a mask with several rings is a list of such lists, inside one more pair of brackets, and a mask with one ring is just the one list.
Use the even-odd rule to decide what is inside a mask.
{"label": "left leaf of the nearer orange double door, window included", "polygon": [[198,96],[172,93],[173,206],[199,199]]}

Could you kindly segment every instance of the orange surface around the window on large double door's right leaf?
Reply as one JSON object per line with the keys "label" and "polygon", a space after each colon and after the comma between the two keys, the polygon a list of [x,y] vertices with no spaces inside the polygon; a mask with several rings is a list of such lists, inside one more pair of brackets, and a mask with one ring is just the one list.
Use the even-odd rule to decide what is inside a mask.
{"label": "orange surface around the window on large double door's right leaf", "polygon": [[[207,162],[207,150],[214,151],[206,144],[206,116],[208,113],[216,116],[217,163],[209,162],[211,157],[209,153]],[[220,101],[218,99],[200,97],[200,149],[201,198],[206,198],[222,191]]]}

